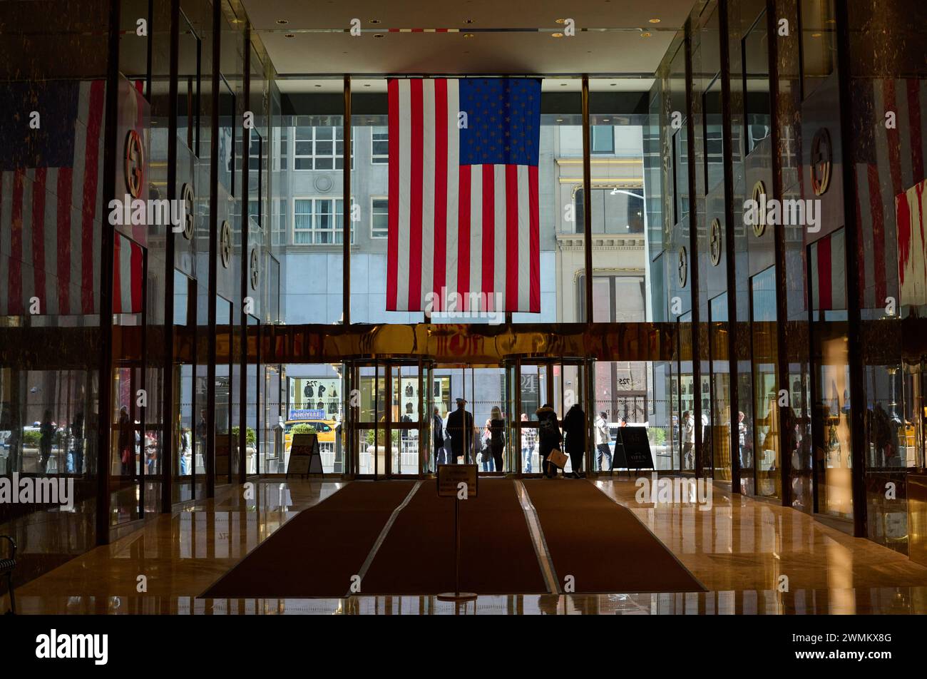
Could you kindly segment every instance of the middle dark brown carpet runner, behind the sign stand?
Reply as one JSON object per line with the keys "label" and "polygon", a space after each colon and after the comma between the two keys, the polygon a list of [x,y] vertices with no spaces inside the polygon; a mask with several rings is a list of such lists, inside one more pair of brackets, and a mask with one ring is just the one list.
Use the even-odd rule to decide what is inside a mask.
{"label": "middle dark brown carpet runner, behind the sign stand", "polygon": [[[425,481],[376,553],[362,594],[436,595],[454,589],[454,501]],[[461,502],[461,590],[480,595],[547,592],[514,482],[479,480]]]}

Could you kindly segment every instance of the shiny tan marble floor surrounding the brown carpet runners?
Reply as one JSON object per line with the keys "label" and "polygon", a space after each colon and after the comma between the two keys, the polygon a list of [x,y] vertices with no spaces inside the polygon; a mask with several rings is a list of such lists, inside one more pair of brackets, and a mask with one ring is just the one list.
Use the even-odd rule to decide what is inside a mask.
{"label": "shiny tan marble floor surrounding the brown carpet runners", "polygon": [[[21,586],[21,613],[179,614],[808,614],[925,613],[927,568],[794,509],[715,486],[712,506],[641,505],[631,480],[593,482],[634,514],[709,590],[480,596],[454,604],[434,596],[345,599],[197,598],[287,519],[344,483],[260,481],[204,501],[97,547]],[[319,557],[324,558],[324,545]],[[308,569],[311,572],[311,568]],[[268,577],[273,577],[268,574]],[[4,609],[6,604],[4,604]]]}

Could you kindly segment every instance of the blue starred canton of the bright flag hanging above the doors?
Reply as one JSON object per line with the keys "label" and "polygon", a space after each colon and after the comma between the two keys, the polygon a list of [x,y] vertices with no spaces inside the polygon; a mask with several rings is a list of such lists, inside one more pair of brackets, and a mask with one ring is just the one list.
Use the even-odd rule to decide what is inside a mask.
{"label": "blue starred canton of the bright flag hanging above the doors", "polygon": [[463,78],[460,108],[462,165],[537,165],[540,147],[540,80]]}

